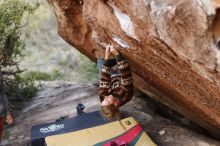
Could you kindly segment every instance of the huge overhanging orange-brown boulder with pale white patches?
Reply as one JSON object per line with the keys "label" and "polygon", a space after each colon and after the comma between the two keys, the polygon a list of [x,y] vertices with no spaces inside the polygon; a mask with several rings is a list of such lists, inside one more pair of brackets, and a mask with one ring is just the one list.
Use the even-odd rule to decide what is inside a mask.
{"label": "huge overhanging orange-brown boulder with pale white patches", "polygon": [[48,1],[69,44],[113,44],[136,87],[220,137],[219,0]]}

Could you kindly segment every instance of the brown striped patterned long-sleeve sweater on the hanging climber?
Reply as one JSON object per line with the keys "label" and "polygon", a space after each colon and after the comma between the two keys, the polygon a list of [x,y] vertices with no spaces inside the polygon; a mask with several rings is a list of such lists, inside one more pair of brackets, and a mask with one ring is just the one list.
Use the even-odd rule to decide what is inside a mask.
{"label": "brown striped patterned long-sleeve sweater on the hanging climber", "polygon": [[132,73],[127,61],[121,56],[116,56],[116,61],[120,75],[112,76],[110,74],[109,60],[105,60],[99,86],[100,100],[103,101],[105,96],[112,95],[118,106],[122,106],[131,100],[133,96]]}

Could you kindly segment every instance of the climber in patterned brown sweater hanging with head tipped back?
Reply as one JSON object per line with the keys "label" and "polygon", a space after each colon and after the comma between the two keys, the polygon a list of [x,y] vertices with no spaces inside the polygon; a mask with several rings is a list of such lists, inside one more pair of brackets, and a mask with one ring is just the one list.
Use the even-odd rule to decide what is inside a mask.
{"label": "climber in patterned brown sweater hanging with head tipped back", "polygon": [[[120,53],[108,45],[104,58],[103,49],[95,49],[97,67],[101,74],[99,96],[101,111],[107,118],[119,116],[119,107],[126,104],[133,96],[132,73],[127,61]],[[111,56],[114,58],[110,59]]]}

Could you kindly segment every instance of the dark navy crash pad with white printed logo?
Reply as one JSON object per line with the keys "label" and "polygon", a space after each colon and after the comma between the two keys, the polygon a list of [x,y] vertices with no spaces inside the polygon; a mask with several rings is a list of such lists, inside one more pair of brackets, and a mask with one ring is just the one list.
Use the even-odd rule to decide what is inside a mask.
{"label": "dark navy crash pad with white printed logo", "polygon": [[31,128],[31,145],[46,146],[45,137],[78,131],[108,123],[99,111],[67,118],[57,122],[34,125]]}

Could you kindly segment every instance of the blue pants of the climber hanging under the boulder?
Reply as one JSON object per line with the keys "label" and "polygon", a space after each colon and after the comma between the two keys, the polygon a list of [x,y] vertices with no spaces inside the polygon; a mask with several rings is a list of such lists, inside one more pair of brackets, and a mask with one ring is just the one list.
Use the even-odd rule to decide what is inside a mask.
{"label": "blue pants of the climber hanging under the boulder", "polygon": [[[110,61],[109,62],[110,63],[110,67],[113,67],[113,66],[117,65],[116,59],[110,59],[109,61]],[[99,70],[99,74],[101,74],[101,72],[102,72],[102,66],[103,66],[104,62],[105,62],[104,58],[98,58],[97,59],[97,68]],[[119,72],[118,68],[117,68],[116,71],[113,71],[112,69],[110,69],[110,75],[111,76],[118,76],[118,75],[120,75],[120,72]]]}

